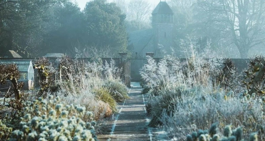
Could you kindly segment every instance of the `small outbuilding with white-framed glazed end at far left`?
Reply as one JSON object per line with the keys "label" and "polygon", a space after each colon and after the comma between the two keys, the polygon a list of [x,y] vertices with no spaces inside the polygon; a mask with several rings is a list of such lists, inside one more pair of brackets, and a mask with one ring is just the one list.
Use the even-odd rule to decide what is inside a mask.
{"label": "small outbuilding with white-framed glazed end at far left", "polygon": [[[34,89],[34,69],[31,60],[0,60],[0,64],[17,64],[20,79],[19,82],[24,82],[23,90]],[[0,85],[1,88],[12,87],[11,82]]]}

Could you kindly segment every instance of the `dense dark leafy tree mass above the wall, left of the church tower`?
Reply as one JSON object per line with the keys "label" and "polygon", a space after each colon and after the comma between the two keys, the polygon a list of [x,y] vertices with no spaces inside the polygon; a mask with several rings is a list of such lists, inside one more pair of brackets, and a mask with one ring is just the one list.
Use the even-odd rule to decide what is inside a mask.
{"label": "dense dark leafy tree mass above the wall, left of the church tower", "polygon": [[126,15],[113,3],[94,0],[80,11],[70,0],[0,1],[0,56],[14,50],[24,57],[68,53],[91,46],[125,51]]}

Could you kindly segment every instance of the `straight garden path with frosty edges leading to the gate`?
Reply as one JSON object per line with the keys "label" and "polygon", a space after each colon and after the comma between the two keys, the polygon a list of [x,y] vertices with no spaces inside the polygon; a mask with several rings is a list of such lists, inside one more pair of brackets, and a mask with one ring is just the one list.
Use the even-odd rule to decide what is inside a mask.
{"label": "straight garden path with frosty edges leading to the gate", "polygon": [[[147,141],[163,140],[163,134],[156,129],[147,127],[149,119],[146,116],[145,95],[142,95],[142,87],[139,82],[131,82],[129,97],[126,101],[119,103],[118,114],[113,120],[104,123],[99,140],[107,141]],[[155,132],[156,131],[156,132]],[[159,139],[158,139],[159,138]]]}

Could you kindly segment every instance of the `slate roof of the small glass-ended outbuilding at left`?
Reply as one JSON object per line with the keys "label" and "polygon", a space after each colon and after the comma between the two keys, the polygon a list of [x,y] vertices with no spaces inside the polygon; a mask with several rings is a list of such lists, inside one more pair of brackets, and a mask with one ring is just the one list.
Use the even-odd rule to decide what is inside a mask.
{"label": "slate roof of the small glass-ended outbuilding at left", "polygon": [[17,64],[20,72],[28,72],[29,67],[32,67],[31,60],[0,60],[0,64]]}

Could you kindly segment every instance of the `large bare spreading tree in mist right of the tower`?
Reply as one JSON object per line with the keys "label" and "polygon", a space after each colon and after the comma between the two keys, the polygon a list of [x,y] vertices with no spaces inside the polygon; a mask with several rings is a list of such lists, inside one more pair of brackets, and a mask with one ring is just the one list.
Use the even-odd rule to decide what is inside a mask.
{"label": "large bare spreading tree in mist right of the tower", "polygon": [[264,45],[264,0],[200,0],[199,6],[213,15],[209,22],[226,23],[232,43],[242,58],[246,58],[254,46]]}

